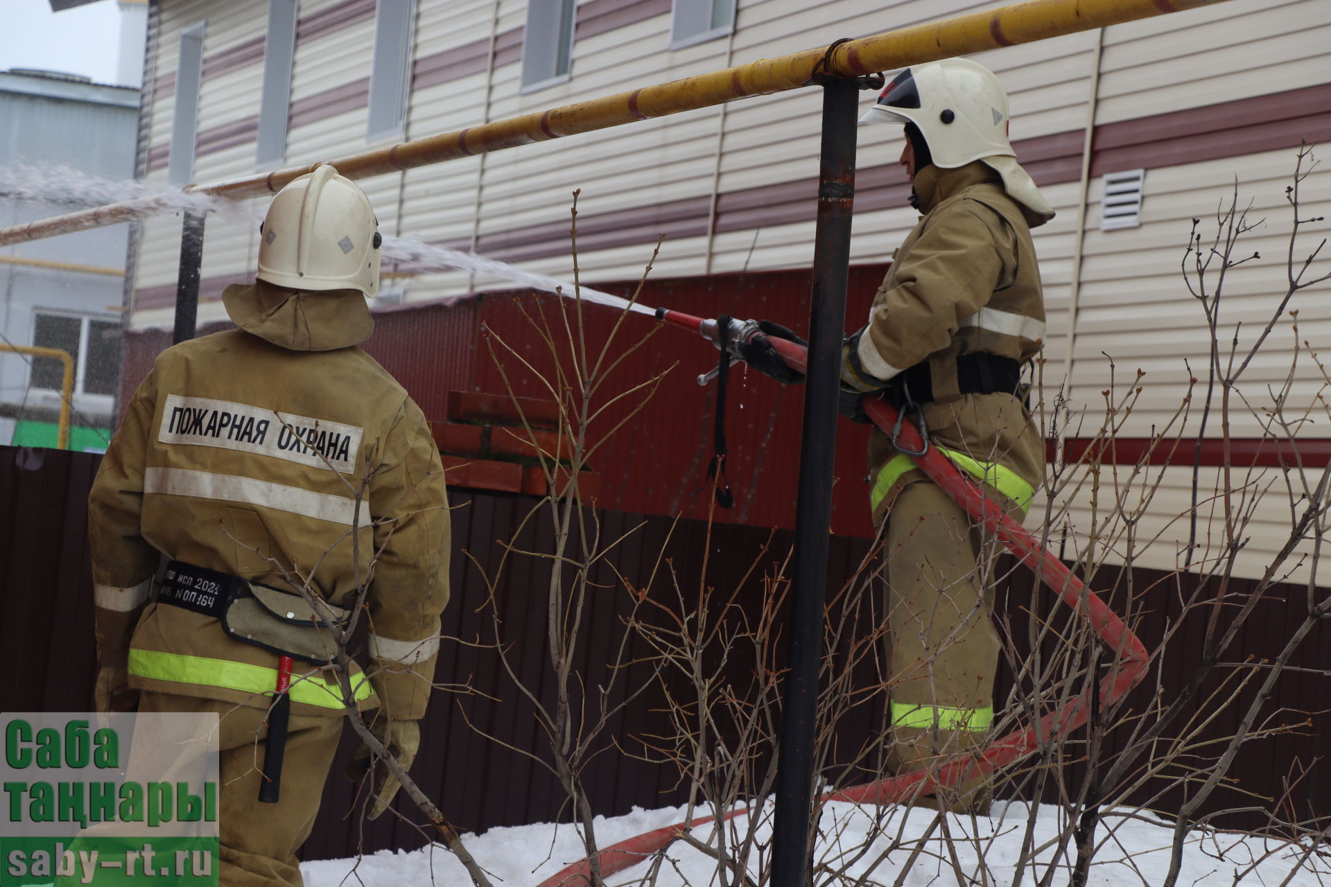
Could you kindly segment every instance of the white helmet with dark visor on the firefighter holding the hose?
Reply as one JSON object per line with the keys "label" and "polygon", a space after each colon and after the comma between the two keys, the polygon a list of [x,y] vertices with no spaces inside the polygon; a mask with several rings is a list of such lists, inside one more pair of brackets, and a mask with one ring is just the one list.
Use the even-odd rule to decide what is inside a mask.
{"label": "white helmet with dark visor on the firefighter holding the hose", "polygon": [[1038,215],[1054,214],[1008,141],[1008,92],[980,63],[944,59],[902,69],[860,124],[914,124],[934,166],[982,160],[1002,176],[1013,199]]}

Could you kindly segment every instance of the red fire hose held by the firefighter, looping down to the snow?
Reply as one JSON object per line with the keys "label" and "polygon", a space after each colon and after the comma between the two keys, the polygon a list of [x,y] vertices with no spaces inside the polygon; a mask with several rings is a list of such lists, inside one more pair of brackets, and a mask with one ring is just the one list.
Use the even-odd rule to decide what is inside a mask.
{"label": "red fire hose held by the firefighter, looping down to the snow", "polygon": [[[721,347],[723,338],[715,319],[696,318],[667,309],[658,309],[656,318],[672,326],[692,330]],[[739,347],[757,335],[759,328],[755,320],[731,320],[727,332],[728,335],[724,336],[727,350],[737,359]],[[805,370],[807,350],[803,346],[771,335],[768,340],[788,366],[800,371]],[[700,376],[699,382],[705,382],[705,376]],[[924,471],[929,480],[965,508],[972,520],[980,521],[986,532],[997,537],[1009,552],[1030,568],[1045,585],[1058,594],[1058,600],[1085,620],[1099,641],[1114,653],[1114,661],[1109,665],[1107,674],[1099,681],[1098,703],[1101,707],[1109,707],[1122,701],[1145,677],[1147,665],[1146,648],[1123,620],[1087,589],[1058,557],[1041,545],[1040,540],[1013,520],[1001,504],[990,499],[978,483],[962,473],[936,447],[929,447],[920,430],[912,422],[902,419],[896,407],[874,396],[865,396],[862,406],[865,415],[884,432],[890,435],[896,430],[894,443],[904,452],[909,451],[916,465]],[[921,455],[914,455],[917,452]],[[996,738],[980,753],[956,754],[928,770],[916,770],[864,786],[829,791],[821,795],[821,801],[870,805],[900,803],[928,795],[940,787],[956,786],[966,778],[993,773],[998,767],[1014,763],[1037,751],[1040,745],[1050,737],[1067,734],[1085,725],[1095,701],[1091,697],[1091,690],[1087,689],[1070,698],[1061,709],[1040,718],[1033,726]],[[646,860],[689,828],[717,819],[727,822],[747,813],[747,807],[740,807],[720,817],[700,817],[622,840],[599,852],[600,874],[614,875]],[[539,887],[590,884],[590,872],[591,864],[583,859],[547,878]]]}

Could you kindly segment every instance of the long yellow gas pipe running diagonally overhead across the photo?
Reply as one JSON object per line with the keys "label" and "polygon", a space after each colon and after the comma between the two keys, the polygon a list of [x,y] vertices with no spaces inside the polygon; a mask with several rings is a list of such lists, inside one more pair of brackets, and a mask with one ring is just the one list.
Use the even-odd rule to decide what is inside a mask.
{"label": "long yellow gas pipe running diagonally overhead across the photo", "polygon": [[[327,162],[349,178],[367,178],[607,129],[650,117],[696,110],[748,96],[796,89],[809,85],[820,68],[829,74],[858,77],[1217,3],[1225,0],[1029,0],[851,40],[839,44],[831,52],[819,48],[776,59],[760,59],[724,70],[417,138]],[[278,191],[293,178],[311,172],[317,165],[289,166],[214,185],[190,185],[185,191],[233,199],[257,197]],[[172,201],[165,197],[146,197],[15,225],[0,229],[0,246],[152,215],[166,211],[170,203]]]}

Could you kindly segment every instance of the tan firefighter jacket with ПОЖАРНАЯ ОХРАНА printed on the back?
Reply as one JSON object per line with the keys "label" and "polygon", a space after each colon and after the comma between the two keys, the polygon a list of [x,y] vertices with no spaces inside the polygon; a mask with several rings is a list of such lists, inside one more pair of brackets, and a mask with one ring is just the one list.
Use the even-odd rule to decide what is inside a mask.
{"label": "tan firefighter jacket with \u041f\u041e\u0416\u0410\u0420\u041d\u0410\u042f \u041e\u0425\u0420\u0410\u041d\u0410 printed on the back", "polygon": [[[425,713],[449,598],[449,511],[419,407],[365,351],[358,291],[228,287],[242,328],[164,351],[125,410],[89,495],[102,665],[130,686],[268,706],[278,656],[218,618],[148,600],[158,552],[351,606],[367,584],[359,707]],[[249,330],[249,331],[246,331]],[[130,638],[132,632],[132,638]],[[326,670],[325,670],[326,672]],[[295,664],[293,713],[343,710]]]}

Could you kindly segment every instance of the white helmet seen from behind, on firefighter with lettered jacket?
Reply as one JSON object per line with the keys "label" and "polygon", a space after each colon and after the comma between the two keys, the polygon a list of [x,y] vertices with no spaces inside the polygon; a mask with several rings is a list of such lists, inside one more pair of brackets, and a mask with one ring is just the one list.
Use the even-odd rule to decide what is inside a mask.
{"label": "white helmet seen from behind, on firefighter with lettered jacket", "polygon": [[379,290],[370,198],[327,164],[277,193],[260,226],[258,278],[295,290]]}

